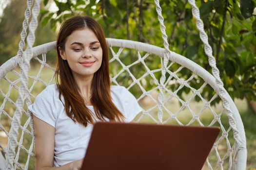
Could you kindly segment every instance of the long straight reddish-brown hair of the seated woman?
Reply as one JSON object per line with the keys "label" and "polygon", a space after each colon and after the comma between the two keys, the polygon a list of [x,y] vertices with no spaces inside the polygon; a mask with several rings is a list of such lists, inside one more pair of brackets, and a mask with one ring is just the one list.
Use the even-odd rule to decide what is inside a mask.
{"label": "long straight reddish-brown hair of the seated woman", "polygon": [[55,72],[59,99],[61,100],[62,95],[66,114],[74,122],[77,121],[84,126],[95,122],[91,111],[86,107],[84,99],[79,94],[78,85],[75,82],[67,60],[63,60],[59,53],[59,48],[65,51],[67,37],[74,31],[84,28],[94,32],[102,48],[102,63],[100,68],[94,73],[90,102],[98,119],[105,120],[107,118],[120,121],[124,117],[112,102],[110,94],[109,56],[105,34],[99,24],[91,17],[74,16],[65,20],[60,27],[56,45],[58,61]]}

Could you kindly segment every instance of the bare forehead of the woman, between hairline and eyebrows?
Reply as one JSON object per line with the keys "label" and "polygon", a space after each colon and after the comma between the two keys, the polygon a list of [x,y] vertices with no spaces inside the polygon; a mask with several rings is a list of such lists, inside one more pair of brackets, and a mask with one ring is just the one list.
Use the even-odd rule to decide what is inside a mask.
{"label": "bare forehead of the woman, between hairline and eyebrows", "polygon": [[88,28],[76,30],[67,37],[66,44],[70,45],[73,42],[80,42],[82,44],[90,44],[91,42],[99,41],[94,32]]}

